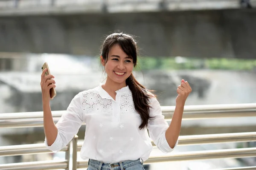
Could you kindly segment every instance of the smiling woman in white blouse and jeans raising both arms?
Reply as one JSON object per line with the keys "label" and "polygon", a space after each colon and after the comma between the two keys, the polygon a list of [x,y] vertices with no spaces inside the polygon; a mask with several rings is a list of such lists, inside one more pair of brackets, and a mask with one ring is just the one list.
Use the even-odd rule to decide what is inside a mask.
{"label": "smiling woman in white blouse and jeans raising both arms", "polygon": [[184,80],[178,86],[169,126],[155,96],[132,74],[137,64],[137,43],[133,37],[122,33],[109,35],[102,46],[101,63],[107,73],[105,84],[77,94],[56,125],[49,105],[54,76],[44,76],[46,70],[43,71],[45,144],[53,152],[61,150],[85,122],[81,158],[89,159],[88,170],[143,170],[140,159],[147,160],[151,153],[150,138],[163,153],[171,152],[177,145],[191,88]]}

